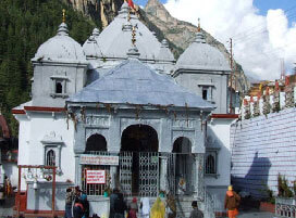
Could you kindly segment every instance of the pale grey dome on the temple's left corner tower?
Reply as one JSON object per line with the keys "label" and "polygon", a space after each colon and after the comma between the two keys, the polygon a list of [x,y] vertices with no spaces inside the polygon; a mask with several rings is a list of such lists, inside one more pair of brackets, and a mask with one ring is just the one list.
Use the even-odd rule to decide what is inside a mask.
{"label": "pale grey dome on the temple's left corner tower", "polygon": [[42,43],[33,61],[86,61],[82,46],[69,36],[67,26],[62,23],[54,37]]}

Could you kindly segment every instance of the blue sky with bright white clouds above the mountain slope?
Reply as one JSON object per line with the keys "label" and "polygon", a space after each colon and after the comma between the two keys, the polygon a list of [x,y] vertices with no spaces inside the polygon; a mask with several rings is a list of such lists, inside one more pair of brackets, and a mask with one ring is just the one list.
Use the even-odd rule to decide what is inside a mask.
{"label": "blue sky with bright white clouds above the mountain slope", "polygon": [[[134,0],[145,5],[148,0]],[[295,0],[160,0],[172,16],[197,24],[230,49],[245,73],[257,79],[278,79],[296,62]]]}

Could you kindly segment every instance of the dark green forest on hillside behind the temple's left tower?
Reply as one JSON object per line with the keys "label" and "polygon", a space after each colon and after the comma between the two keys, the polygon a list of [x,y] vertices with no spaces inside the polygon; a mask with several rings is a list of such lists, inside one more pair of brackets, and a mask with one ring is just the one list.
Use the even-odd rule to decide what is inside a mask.
{"label": "dark green forest on hillside behind the temple's left tower", "polygon": [[57,34],[62,9],[66,10],[70,36],[81,44],[95,26],[100,27],[60,0],[0,1],[0,108],[13,137],[17,137],[18,123],[11,110],[30,100],[30,59]]}

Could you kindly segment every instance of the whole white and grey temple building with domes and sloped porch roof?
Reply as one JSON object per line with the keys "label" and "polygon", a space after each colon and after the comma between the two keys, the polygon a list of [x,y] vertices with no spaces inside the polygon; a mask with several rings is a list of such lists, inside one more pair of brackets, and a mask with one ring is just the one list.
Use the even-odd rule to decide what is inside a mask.
{"label": "whole white and grey temple building with domes and sloped porch roof", "polygon": [[[32,101],[13,110],[20,123],[24,213],[64,210],[65,189],[79,185],[90,214],[108,216],[104,191],[126,198],[171,193],[187,217],[197,200],[208,217],[223,211],[230,184],[230,66],[202,31],[174,60],[168,41],[130,13],[126,2],[83,44],[62,23],[35,57]],[[51,176],[49,176],[51,175]],[[92,175],[90,177],[89,175]]]}

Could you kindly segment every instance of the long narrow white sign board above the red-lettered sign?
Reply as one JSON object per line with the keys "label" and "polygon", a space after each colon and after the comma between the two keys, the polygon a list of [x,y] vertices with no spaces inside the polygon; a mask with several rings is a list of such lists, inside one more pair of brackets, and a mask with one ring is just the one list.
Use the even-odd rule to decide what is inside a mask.
{"label": "long narrow white sign board above the red-lettered sign", "polygon": [[120,164],[119,156],[100,156],[100,155],[87,155],[81,156],[81,164],[83,165],[115,165]]}

